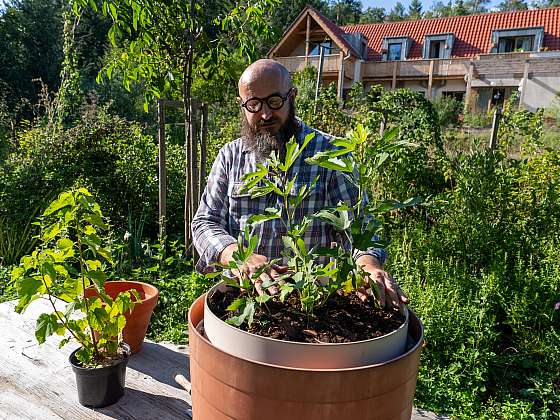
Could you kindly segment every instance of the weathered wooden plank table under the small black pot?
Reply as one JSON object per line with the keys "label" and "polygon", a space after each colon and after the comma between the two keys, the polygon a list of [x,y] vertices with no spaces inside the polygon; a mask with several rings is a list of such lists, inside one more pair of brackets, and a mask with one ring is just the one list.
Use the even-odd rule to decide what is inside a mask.
{"label": "weathered wooden plank table under the small black pot", "polygon": [[[78,403],[68,363],[77,345],[58,349],[61,337],[42,345],[35,339],[36,319],[50,310],[49,303],[37,300],[23,315],[15,313],[15,306],[15,301],[0,304],[0,419],[192,418],[187,346],[144,342],[128,362],[124,396],[111,406],[90,409]],[[411,420],[436,419],[446,417],[414,409]]]}

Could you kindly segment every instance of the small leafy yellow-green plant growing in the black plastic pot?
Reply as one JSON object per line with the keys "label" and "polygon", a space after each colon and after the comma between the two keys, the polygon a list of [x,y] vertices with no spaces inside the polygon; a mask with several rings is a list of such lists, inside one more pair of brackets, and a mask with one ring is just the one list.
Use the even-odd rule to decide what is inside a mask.
{"label": "small leafy yellow-green plant growing in the black plastic pot", "polygon": [[[36,224],[39,246],[12,271],[19,299],[16,311],[22,313],[34,300],[47,299],[52,311],[37,319],[38,342],[69,333],[60,347],[77,341],[81,348],[76,357],[83,366],[110,363],[119,356],[124,314],[139,296],[134,290],[115,299],[105,293],[105,271],[112,258],[103,241],[108,225],[99,204],[85,188],[63,192]],[[95,288],[97,296],[86,297],[88,287]],[[60,301],[66,303],[63,310]]]}

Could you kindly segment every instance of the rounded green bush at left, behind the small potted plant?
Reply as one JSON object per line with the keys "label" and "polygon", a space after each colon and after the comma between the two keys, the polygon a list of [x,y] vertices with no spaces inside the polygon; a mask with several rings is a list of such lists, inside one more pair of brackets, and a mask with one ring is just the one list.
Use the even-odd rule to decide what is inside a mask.
{"label": "rounded green bush at left, behind the small potted plant", "polygon": [[[181,147],[171,147],[168,211],[179,226],[183,162]],[[25,237],[34,212],[44,209],[61,191],[84,186],[99,197],[116,230],[124,232],[129,217],[144,217],[144,234],[154,238],[158,231],[157,174],[157,144],[143,134],[139,124],[109,115],[95,105],[86,106],[72,128],[37,126],[19,134],[17,147],[0,163],[0,220],[11,227],[9,232],[15,237]],[[11,262],[19,256],[11,255]],[[0,259],[4,257],[0,255]]]}

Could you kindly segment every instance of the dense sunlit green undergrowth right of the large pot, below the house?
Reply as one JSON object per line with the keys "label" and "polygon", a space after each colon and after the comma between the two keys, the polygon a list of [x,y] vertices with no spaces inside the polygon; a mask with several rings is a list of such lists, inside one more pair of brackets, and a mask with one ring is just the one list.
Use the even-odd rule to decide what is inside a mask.
{"label": "dense sunlit green undergrowth right of the large pot, below the house", "polygon": [[560,153],[508,155],[458,155],[430,205],[386,217],[426,327],[416,404],[462,419],[560,410]]}

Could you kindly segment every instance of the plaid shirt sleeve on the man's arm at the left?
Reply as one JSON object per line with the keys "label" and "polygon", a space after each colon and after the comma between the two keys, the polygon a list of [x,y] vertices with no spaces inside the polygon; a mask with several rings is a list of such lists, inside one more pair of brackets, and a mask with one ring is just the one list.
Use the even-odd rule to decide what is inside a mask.
{"label": "plaid shirt sleeve on the man's arm at the left", "polygon": [[200,255],[196,270],[201,273],[213,271],[212,264],[218,261],[220,253],[228,245],[237,242],[227,231],[227,157],[228,150],[224,147],[212,165],[206,188],[191,224],[193,243]]}

